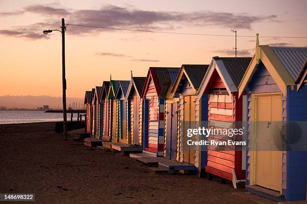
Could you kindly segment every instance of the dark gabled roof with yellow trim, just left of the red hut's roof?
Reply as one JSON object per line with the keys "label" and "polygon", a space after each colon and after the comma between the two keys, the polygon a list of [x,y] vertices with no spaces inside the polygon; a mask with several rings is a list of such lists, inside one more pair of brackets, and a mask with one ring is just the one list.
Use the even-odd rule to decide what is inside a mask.
{"label": "dark gabled roof with yellow trim, just left of the red hut's roof", "polygon": [[173,96],[180,87],[180,82],[182,79],[184,79],[184,77],[187,77],[193,89],[197,91],[204,78],[204,75],[207,72],[208,67],[209,64],[183,64],[179,70],[179,73],[177,74],[174,86],[171,91]]}

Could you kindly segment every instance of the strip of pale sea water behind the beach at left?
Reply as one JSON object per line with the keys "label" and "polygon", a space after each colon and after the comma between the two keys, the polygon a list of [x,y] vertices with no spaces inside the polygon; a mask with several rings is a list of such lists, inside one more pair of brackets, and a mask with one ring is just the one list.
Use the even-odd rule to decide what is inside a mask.
{"label": "strip of pale sea water behind the beach at left", "polygon": [[[68,121],[70,121],[70,117],[70,113],[67,113]],[[77,120],[77,117],[78,113],[74,113],[73,120]],[[82,116],[82,120],[84,120],[84,116]],[[0,124],[49,121],[63,121],[63,113],[28,110],[0,110]]]}

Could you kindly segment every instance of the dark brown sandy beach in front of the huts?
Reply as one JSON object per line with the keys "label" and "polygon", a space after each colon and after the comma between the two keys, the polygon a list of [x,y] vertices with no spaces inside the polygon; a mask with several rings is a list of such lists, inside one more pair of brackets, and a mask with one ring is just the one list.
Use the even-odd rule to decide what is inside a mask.
{"label": "dark brown sandy beach in front of the huts", "polygon": [[1,193],[35,193],[35,203],[277,203],[218,178],[155,174],[128,156],[75,142],[73,134],[64,141],[54,125],[0,125]]}

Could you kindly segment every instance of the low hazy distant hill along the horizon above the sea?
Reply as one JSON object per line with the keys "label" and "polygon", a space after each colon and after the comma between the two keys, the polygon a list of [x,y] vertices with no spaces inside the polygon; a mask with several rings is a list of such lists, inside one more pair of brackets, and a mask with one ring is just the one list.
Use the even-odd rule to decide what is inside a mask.
{"label": "low hazy distant hill along the horizon above the sea", "polygon": [[[67,108],[69,104],[73,106],[73,102],[77,102],[77,107],[83,107],[84,98],[77,97],[68,97],[67,100]],[[37,108],[42,107],[43,105],[49,105],[49,108],[54,109],[62,109],[62,97],[54,97],[48,95],[5,95],[0,96],[0,106],[6,106],[8,108]],[[76,105],[76,104],[75,104]]]}

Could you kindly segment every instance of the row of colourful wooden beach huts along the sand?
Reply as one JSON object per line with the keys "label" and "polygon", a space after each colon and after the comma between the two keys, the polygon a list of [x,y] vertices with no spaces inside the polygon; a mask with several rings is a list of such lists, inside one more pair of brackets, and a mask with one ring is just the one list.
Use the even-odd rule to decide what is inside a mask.
{"label": "row of colourful wooden beach huts along the sand", "polygon": [[[149,67],[145,77],[131,71],[130,80],[110,77],[85,92],[91,137],[84,143],[157,162],[157,170],[218,176],[234,186],[245,181],[248,191],[263,196],[306,200],[307,140],[305,150],[286,148],[284,140],[281,150],[255,148],[276,136],[272,121],[307,120],[306,63],[307,47],[259,45],[257,35],[253,57],[215,56],[210,64]],[[241,121],[246,147],[186,145],[188,128]],[[267,121],[267,129],[257,130],[252,121]],[[285,128],[279,133],[291,139]]]}

